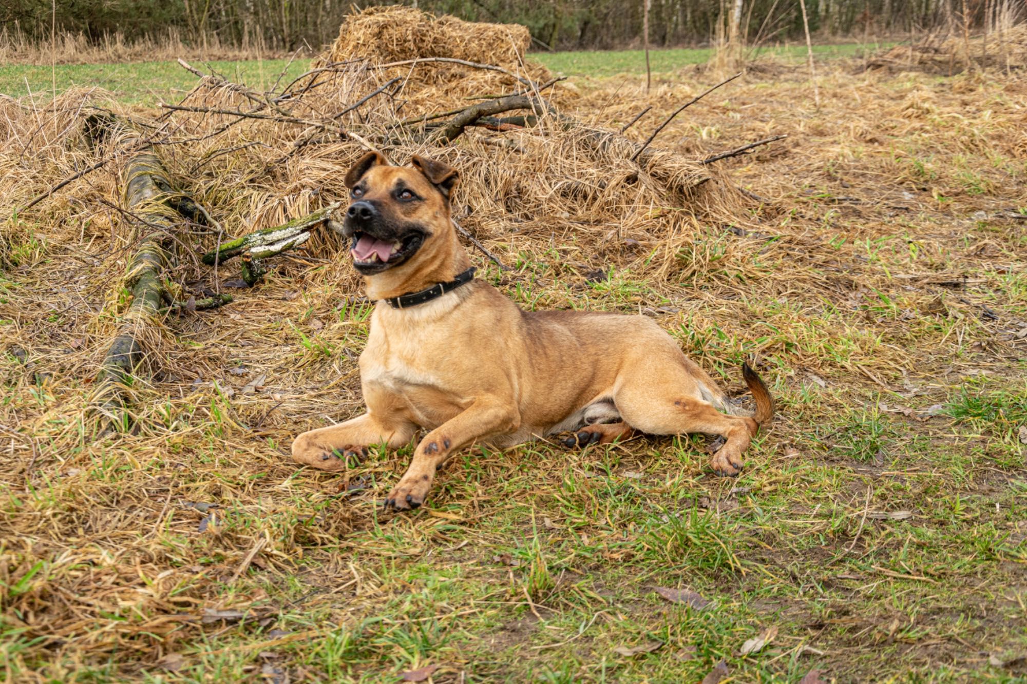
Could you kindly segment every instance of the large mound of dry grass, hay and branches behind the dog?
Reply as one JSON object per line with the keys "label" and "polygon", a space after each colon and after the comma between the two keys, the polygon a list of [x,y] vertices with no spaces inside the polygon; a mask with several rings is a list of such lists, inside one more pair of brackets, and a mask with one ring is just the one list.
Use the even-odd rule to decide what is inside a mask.
{"label": "large mound of dry grass, hay and branches behind the dog", "polygon": [[[11,115],[0,117],[0,132],[24,150],[0,160],[0,190],[24,198],[14,201],[20,218],[77,225],[78,241],[109,240],[104,270],[127,271],[108,282],[107,305],[93,314],[100,386],[125,384],[144,360],[159,366],[166,314],[224,304],[237,269],[253,284],[270,263],[337,261],[345,245],[320,227],[346,201],[347,168],[369,150],[459,169],[454,219],[501,268],[517,259],[519,239],[544,235],[600,255],[637,251],[653,276],[668,277],[676,250],[654,259],[645,245],[681,244],[697,218],[744,216],[741,195],[702,159],[573,115],[576,94],[525,59],[528,42],[519,26],[376,8],[351,16],[307,73],[271,90],[183,62],[195,87],[150,116],[70,92],[40,134],[16,111],[24,105],[3,104]],[[292,261],[268,262],[283,253]],[[352,273],[337,277],[358,297]],[[110,392],[101,402],[118,405]]]}

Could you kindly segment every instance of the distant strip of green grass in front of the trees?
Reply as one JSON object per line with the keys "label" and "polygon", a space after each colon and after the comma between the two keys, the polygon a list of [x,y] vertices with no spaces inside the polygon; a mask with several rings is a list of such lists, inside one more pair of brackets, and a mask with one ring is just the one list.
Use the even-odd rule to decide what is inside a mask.
{"label": "distant strip of green grass in front of the trees", "polygon": [[[815,45],[813,51],[821,59],[852,56],[865,47],[874,45],[858,43],[843,45]],[[675,71],[682,67],[703,64],[710,59],[710,48],[674,48],[650,51],[654,72]],[[786,60],[801,61],[805,47],[789,46],[757,50],[755,54],[773,54]],[[534,52],[536,60],[554,72],[568,76],[613,76],[615,74],[645,73],[645,54],[642,50]],[[287,68],[288,65],[288,68]],[[278,74],[286,71],[283,83],[299,76],[310,66],[310,60],[241,60],[237,62],[195,62],[193,66],[205,73],[217,71],[229,80],[244,82],[257,88],[270,88]],[[69,87],[99,87],[112,91],[125,104],[154,105],[161,100],[181,98],[196,83],[196,78],[177,62],[137,62],[129,64],[58,65],[46,66],[0,65],[0,92],[21,97],[31,92],[50,91],[54,84],[59,91]]]}

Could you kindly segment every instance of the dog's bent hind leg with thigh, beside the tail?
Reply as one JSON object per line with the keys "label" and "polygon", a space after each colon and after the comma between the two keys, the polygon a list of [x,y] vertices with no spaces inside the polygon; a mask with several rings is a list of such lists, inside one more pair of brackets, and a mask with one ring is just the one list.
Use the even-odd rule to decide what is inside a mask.
{"label": "dog's bent hind leg with thigh, beside the tail", "polygon": [[714,470],[730,477],[741,471],[741,454],[759,429],[755,420],[718,411],[705,398],[710,391],[701,391],[701,380],[689,374],[685,366],[662,368],[656,373],[626,369],[622,378],[613,401],[632,427],[649,434],[719,434],[725,443],[713,456]]}

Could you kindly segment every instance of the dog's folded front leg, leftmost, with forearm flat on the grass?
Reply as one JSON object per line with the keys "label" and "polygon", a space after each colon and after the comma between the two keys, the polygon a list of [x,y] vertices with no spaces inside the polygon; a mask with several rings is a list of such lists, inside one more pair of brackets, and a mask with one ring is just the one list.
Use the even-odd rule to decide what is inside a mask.
{"label": "dog's folded front leg, leftmost, with forearm flat on the grass", "polygon": [[358,456],[365,447],[383,442],[392,448],[402,447],[410,442],[415,429],[413,423],[394,416],[381,419],[366,413],[338,425],[303,432],[293,441],[293,460],[321,470],[345,470],[350,455]]}

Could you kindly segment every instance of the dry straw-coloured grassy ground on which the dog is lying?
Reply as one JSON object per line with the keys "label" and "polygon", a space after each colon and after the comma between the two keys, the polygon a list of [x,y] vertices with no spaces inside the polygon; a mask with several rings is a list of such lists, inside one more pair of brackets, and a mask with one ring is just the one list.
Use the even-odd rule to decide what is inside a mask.
{"label": "dry straw-coloured grassy ground on which the dog is lying", "polygon": [[[820,65],[817,109],[804,69],[760,63],[676,118],[654,146],[689,159],[788,135],[711,164],[721,194],[701,205],[623,159],[588,190],[599,162],[574,176],[531,130],[440,153],[466,162],[461,225],[507,266],[474,251],[481,277],[525,308],[652,316],[737,392],[752,358],[778,414],[735,480],[701,435],[474,448],[404,515],[380,503],[411,447],[344,474],[289,457],[362,410],[371,305],[328,236],[248,290],[226,284],[233,262],[190,257],[220,237],[179,235],[177,287],[234,301],[150,331],[132,421],[98,432],[130,252],[116,168],[11,212],[89,163],[90,107],[160,112],[102,91],[0,101],[5,679],[1018,681],[1027,78],[859,67]],[[718,80],[575,77],[555,97],[613,129],[651,106],[625,134],[641,142]],[[184,138],[220,122],[176,120]],[[353,154],[271,167],[300,131],[258,125],[158,151],[231,234],[340,197]]]}

